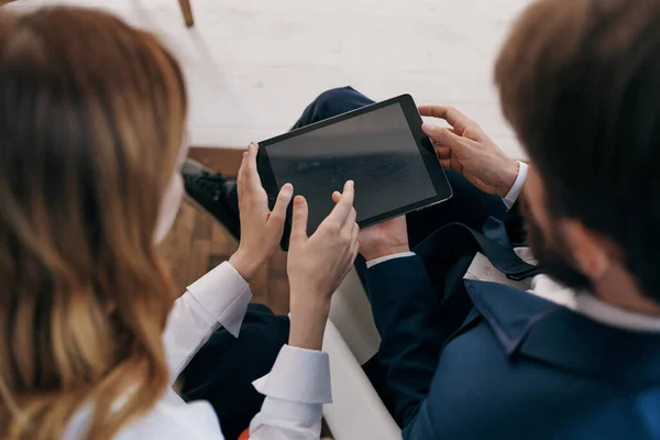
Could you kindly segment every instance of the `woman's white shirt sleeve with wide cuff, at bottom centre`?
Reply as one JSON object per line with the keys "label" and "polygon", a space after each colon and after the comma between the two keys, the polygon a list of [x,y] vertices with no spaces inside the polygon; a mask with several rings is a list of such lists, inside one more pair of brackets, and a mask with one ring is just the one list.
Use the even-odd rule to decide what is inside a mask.
{"label": "woman's white shirt sleeve with wide cuff, at bottom centre", "polygon": [[266,399],[250,424],[251,440],[319,439],[323,404],[332,402],[328,353],[284,345],[253,385]]}

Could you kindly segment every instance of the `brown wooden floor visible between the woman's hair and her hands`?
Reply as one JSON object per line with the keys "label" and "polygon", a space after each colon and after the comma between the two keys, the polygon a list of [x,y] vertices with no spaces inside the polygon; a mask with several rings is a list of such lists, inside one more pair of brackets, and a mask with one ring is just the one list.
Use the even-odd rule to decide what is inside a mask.
{"label": "brown wooden floor visible between the woman's hair and her hands", "polygon": [[[223,148],[191,148],[195,160],[226,176],[238,170],[241,152]],[[228,260],[237,250],[238,242],[213,217],[186,200],[174,227],[161,244],[161,252],[167,262],[179,292]],[[275,314],[288,312],[288,279],[286,276],[286,254],[277,253],[264,265],[251,283],[253,302],[265,304]]]}

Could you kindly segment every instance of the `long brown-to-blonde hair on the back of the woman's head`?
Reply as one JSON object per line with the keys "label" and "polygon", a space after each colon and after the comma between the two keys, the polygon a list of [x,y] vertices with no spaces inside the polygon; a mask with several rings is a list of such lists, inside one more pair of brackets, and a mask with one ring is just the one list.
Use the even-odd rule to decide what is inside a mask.
{"label": "long brown-to-blonde hair on the back of the woman's head", "polygon": [[167,384],[154,251],[186,95],[152,35],[0,10],[0,438],[109,438]]}

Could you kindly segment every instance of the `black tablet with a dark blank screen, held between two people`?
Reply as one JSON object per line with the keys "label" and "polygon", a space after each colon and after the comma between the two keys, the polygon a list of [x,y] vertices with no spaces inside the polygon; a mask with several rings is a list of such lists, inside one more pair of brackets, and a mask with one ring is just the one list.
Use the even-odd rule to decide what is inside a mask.
{"label": "black tablet with a dark blank screen, held between two people", "polygon": [[[409,95],[260,142],[257,168],[271,208],[294,185],[309,206],[312,234],[334,207],[332,193],[355,182],[361,228],[438,204],[452,190]],[[282,240],[288,248],[290,210]]]}

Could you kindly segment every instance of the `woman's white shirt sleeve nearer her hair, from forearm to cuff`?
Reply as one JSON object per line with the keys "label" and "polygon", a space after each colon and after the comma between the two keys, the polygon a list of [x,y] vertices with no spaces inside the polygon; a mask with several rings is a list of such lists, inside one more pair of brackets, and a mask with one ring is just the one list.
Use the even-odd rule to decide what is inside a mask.
{"label": "woman's white shirt sleeve nearer her hair, from forearm to cuff", "polygon": [[172,382],[220,326],[239,336],[250,299],[250,286],[228,262],[188,286],[174,302],[163,333]]}

